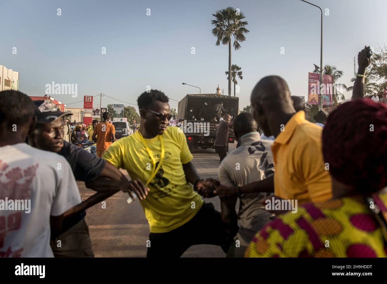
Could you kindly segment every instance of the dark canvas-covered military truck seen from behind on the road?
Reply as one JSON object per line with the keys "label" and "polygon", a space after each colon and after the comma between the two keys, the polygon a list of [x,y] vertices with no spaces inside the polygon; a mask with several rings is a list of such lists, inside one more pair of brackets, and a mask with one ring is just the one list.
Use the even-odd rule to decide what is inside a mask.
{"label": "dark canvas-covered military truck seen from behind on the road", "polygon": [[[223,108],[219,107],[223,103]],[[220,117],[228,113],[235,119],[239,111],[239,98],[221,94],[188,94],[178,103],[178,120],[183,119],[185,137],[190,151],[197,148],[214,149],[216,128]],[[190,111],[192,110],[192,112]],[[216,121],[214,121],[216,117]],[[228,143],[234,143],[234,132],[229,128]],[[228,146],[226,148],[228,151]]]}

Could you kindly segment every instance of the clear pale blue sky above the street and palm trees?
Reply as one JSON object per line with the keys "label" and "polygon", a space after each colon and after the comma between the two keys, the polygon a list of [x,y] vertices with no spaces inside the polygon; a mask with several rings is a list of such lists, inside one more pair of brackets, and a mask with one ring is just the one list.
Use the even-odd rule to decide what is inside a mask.
{"label": "clear pale blue sky above the street and palm trees", "polygon": [[[344,71],[337,83],[353,85],[354,56],[365,45],[386,44],[387,1],[310,2],[323,10],[323,65]],[[202,93],[215,93],[219,84],[227,94],[228,46],[215,45],[211,20],[228,6],[245,14],[250,31],[231,52],[231,63],[243,72],[240,109],[267,75],[283,77],[292,95],[307,97],[308,72],[320,63],[320,10],[300,0],[5,1],[0,65],[19,71],[20,90],[31,96],[45,95],[53,81],[77,84],[77,97],[52,95],[67,107],[83,107],[84,95],[100,93],[114,98],[103,96],[102,107],[135,106],[147,86],[162,90],[175,107],[198,93],[182,82]]]}

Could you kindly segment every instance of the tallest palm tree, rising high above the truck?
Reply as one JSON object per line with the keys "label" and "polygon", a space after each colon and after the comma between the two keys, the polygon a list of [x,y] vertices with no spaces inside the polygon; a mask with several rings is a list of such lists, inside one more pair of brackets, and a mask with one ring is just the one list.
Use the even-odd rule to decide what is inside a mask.
{"label": "tallest palm tree, rising high above the truck", "polygon": [[[235,50],[240,49],[239,43],[246,40],[245,34],[249,32],[245,28],[247,22],[242,21],[245,15],[233,7],[217,10],[212,15],[216,18],[211,21],[212,26],[214,26],[211,32],[217,38],[215,45],[219,46],[220,42],[228,44],[228,73],[231,73],[231,37],[234,37]],[[228,95],[231,97],[231,77],[228,78]]]}

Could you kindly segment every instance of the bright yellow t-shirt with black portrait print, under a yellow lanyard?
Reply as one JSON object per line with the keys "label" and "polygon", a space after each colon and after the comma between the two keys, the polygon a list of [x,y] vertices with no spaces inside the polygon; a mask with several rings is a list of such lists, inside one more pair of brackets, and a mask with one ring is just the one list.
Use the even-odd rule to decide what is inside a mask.
{"label": "bright yellow t-shirt with black portrait print, under a yellow lanyard", "polygon": [[[178,127],[167,127],[162,134],[165,155],[156,176],[148,184],[150,192],[140,201],[151,233],[172,231],[192,219],[203,200],[185,179],[183,164],[193,158],[184,133]],[[144,139],[158,165],[161,145],[158,136]],[[128,171],[132,179],[144,184],[151,177],[152,160],[140,139],[140,132],[118,139],[103,154],[103,159],[116,168]]]}

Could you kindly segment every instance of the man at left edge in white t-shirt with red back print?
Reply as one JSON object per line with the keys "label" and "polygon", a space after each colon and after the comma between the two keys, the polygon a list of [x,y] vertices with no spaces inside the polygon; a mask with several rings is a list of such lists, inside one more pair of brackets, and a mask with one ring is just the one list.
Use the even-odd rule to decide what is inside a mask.
{"label": "man at left edge in white t-shirt with red back print", "polygon": [[0,257],[53,257],[50,236],[81,203],[74,175],[64,157],[25,143],[32,100],[7,90],[0,101]]}

